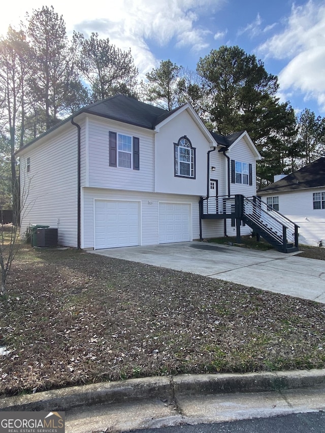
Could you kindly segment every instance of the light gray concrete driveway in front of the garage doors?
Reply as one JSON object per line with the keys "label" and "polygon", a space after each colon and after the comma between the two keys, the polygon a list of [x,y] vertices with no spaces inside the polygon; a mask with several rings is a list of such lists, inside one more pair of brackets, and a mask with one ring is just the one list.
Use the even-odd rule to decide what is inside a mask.
{"label": "light gray concrete driveway in front of the garage doors", "polygon": [[205,242],[91,251],[232,281],[325,304],[325,261]]}

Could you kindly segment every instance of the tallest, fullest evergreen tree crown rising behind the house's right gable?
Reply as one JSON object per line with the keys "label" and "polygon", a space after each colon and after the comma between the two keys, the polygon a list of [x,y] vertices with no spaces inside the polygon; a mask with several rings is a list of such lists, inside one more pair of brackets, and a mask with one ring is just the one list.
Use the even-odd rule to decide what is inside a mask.
{"label": "tallest, fullest evergreen tree crown rising behind the house's right gable", "polygon": [[256,117],[265,120],[263,109],[278,83],[261,60],[239,47],[222,46],[200,58],[197,71],[203,78],[206,112],[220,134],[246,129]]}

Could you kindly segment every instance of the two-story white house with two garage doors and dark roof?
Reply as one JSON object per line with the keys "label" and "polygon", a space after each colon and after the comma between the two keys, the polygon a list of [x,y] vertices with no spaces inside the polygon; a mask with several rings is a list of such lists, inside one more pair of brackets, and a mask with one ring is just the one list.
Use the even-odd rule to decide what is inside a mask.
{"label": "two-story white house with two garage doors and dark roof", "polygon": [[[246,131],[212,134],[189,104],[166,111],[122,95],[79,110],[17,156],[22,191],[29,184],[22,232],[47,224],[60,245],[85,249],[234,236],[230,196],[256,193],[261,158]],[[213,211],[203,210],[207,196]]]}

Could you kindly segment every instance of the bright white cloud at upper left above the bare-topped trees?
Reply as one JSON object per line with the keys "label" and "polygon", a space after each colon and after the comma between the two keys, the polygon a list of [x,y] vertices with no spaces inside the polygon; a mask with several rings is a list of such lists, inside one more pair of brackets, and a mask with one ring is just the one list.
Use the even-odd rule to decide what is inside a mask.
{"label": "bright white cloud at upper left above the bare-topped trees", "polygon": [[[206,38],[210,32],[199,25],[199,18],[224,1],[93,0],[87,8],[63,0],[52,0],[51,4],[55,12],[63,16],[69,34],[77,30],[89,36],[97,31],[101,38],[108,37],[121,49],[131,48],[139,72],[145,74],[160,61],[150,51],[151,42],[161,47],[173,43],[176,48],[188,47],[193,52],[207,48]],[[0,15],[0,34],[6,32],[10,23],[17,25],[25,11],[31,13],[32,9],[43,5],[43,0],[6,2]]]}

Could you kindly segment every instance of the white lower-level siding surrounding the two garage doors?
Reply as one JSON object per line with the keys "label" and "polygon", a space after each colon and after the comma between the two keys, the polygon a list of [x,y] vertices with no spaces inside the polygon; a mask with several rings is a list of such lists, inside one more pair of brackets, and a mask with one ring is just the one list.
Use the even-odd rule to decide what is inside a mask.
{"label": "white lower-level siding surrounding the two garage doors", "polygon": [[140,245],[159,243],[159,202],[191,205],[191,237],[192,239],[200,239],[199,196],[83,188],[82,197],[83,221],[85,221],[82,248],[93,248],[94,246],[94,199],[140,202]]}

